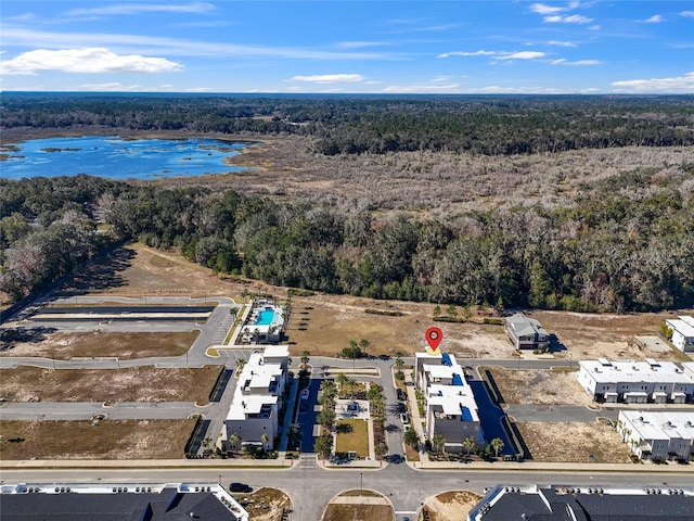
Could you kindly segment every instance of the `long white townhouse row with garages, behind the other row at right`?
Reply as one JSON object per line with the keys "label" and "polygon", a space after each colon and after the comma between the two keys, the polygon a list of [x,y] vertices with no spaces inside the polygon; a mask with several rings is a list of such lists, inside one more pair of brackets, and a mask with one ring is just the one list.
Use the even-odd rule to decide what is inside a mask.
{"label": "long white townhouse row with garages, behind the other row at right", "polygon": [[694,379],[671,361],[580,360],[578,381],[595,402],[684,404],[694,395]]}

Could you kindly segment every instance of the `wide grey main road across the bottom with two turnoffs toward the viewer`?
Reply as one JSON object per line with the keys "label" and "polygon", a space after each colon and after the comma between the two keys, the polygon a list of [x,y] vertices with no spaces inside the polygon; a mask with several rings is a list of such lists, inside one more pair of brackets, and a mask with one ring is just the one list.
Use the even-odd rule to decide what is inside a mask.
{"label": "wide grey main road across the bottom with two turnoffs toward the viewer", "polygon": [[3,470],[8,483],[166,483],[213,482],[228,485],[232,481],[248,483],[253,487],[273,486],[285,491],[294,501],[294,518],[300,521],[319,520],[326,503],[337,493],[359,488],[378,491],[386,495],[399,512],[397,518],[414,512],[427,497],[450,490],[466,488],[484,493],[485,487],[497,484],[567,484],[574,486],[657,486],[667,483],[673,487],[694,486],[694,475],[648,474],[638,472],[566,472],[560,471],[415,471],[404,465],[390,465],[381,471],[331,470],[299,465],[291,470],[267,469],[100,469],[100,470]]}

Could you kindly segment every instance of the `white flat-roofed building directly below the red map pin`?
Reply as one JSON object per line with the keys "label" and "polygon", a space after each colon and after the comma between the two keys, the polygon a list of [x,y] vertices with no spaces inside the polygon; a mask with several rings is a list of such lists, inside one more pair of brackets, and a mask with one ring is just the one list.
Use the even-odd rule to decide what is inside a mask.
{"label": "white flat-roofed building directly below the red map pin", "polygon": [[486,441],[477,403],[455,357],[447,353],[416,353],[415,360],[416,385],[426,398],[424,432],[427,439],[433,441],[435,435],[441,434],[446,440],[444,449],[450,453],[464,450],[466,439],[484,446]]}

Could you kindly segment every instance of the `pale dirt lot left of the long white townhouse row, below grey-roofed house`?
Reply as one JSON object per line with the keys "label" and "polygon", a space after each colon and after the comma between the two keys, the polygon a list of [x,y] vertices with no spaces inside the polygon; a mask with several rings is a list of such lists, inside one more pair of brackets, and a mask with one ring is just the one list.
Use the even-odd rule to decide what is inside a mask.
{"label": "pale dirt lot left of the long white townhouse row, below grey-roofed house", "polygon": [[576,372],[488,368],[506,404],[591,405]]}

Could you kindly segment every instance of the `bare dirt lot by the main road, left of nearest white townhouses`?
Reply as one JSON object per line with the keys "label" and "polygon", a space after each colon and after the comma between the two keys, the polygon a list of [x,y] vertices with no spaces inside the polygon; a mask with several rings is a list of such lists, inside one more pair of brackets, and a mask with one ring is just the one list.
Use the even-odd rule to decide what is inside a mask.
{"label": "bare dirt lot by the main road, left of nearest white townhouses", "polygon": [[[536,461],[626,463],[629,448],[612,427],[595,423],[517,423]],[[591,459],[590,455],[593,455]]]}

